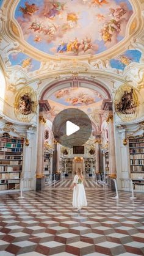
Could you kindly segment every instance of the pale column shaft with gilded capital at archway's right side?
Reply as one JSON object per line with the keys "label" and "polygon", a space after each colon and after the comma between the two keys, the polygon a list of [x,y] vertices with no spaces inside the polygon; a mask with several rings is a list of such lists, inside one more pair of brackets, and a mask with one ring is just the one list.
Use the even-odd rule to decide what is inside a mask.
{"label": "pale column shaft with gilded capital at archway's right side", "polygon": [[117,178],[117,172],[116,172],[116,163],[115,163],[115,138],[114,138],[114,129],[113,129],[113,115],[109,114],[107,117],[107,123],[108,123],[108,134],[109,134],[109,170],[110,178]]}

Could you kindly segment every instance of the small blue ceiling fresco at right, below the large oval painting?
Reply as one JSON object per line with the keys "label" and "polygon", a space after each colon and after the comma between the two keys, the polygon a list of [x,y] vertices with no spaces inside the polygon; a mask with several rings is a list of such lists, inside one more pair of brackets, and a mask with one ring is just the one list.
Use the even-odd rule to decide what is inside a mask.
{"label": "small blue ceiling fresco at right, below the large oval painting", "polygon": [[140,62],[140,58],[142,57],[142,53],[138,50],[128,50],[125,51],[120,56],[115,59],[110,60],[110,65],[112,68],[117,68],[120,70],[124,70],[132,62]]}

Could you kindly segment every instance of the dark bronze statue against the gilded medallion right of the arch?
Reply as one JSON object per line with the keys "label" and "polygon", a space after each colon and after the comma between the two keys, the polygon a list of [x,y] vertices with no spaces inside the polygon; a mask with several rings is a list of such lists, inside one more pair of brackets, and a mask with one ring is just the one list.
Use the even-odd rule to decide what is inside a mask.
{"label": "dark bronze statue against the gilded medallion right of the arch", "polygon": [[121,101],[116,105],[118,112],[121,112],[122,114],[135,113],[137,105],[134,103],[133,93],[134,89],[131,89],[131,92],[128,92],[128,90],[124,91]]}

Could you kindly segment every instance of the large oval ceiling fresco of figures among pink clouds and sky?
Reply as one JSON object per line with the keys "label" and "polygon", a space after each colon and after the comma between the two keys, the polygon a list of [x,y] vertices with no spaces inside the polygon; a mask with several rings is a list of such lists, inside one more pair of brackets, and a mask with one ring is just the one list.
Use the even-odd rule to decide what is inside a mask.
{"label": "large oval ceiling fresco of figures among pink clouds and sky", "polygon": [[103,53],[126,36],[128,0],[21,0],[15,19],[24,40],[48,54]]}

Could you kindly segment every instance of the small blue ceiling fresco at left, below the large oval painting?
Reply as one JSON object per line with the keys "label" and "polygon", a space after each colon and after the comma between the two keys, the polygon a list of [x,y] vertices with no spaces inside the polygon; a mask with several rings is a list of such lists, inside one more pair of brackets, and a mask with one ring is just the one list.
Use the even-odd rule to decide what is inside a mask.
{"label": "small blue ceiling fresco at left, below the large oval painting", "polygon": [[12,53],[9,55],[11,65],[20,65],[26,71],[35,71],[40,68],[40,62],[32,59],[24,53]]}

